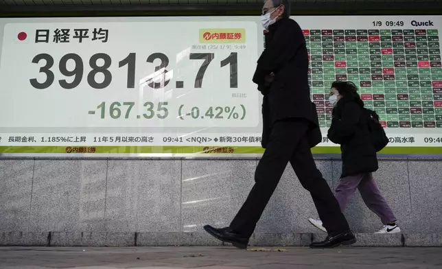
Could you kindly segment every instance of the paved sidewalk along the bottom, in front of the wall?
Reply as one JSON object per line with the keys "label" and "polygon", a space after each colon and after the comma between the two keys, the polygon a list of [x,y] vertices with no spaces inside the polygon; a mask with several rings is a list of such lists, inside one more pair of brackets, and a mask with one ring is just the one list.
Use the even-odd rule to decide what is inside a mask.
{"label": "paved sidewalk along the bottom, in front of the wall", "polygon": [[[251,248],[254,249],[254,248]],[[258,248],[259,249],[259,248]],[[256,248],[255,248],[256,250]],[[0,268],[442,268],[442,248],[264,248],[231,247],[0,248]]]}

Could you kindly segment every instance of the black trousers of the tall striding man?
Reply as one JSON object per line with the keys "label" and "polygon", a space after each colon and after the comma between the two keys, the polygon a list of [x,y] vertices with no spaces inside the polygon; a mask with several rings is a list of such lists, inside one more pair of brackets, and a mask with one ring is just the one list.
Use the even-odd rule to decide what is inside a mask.
{"label": "black trousers of the tall striding man", "polygon": [[316,168],[307,142],[307,130],[308,121],[303,119],[284,119],[273,124],[266,150],[257,165],[255,185],[231,222],[230,227],[235,232],[251,237],[289,161],[301,185],[310,191],[319,218],[329,234],[349,230],[338,201]]}

